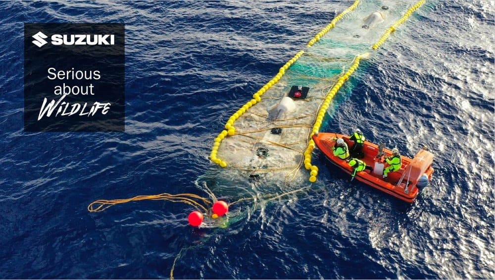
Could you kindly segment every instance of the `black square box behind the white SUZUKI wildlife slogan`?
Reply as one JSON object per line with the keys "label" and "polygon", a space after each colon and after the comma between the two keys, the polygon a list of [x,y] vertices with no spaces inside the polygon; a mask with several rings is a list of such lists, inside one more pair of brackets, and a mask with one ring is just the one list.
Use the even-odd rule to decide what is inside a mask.
{"label": "black square box behind the white SUZUKI wildlife slogan", "polygon": [[[42,32],[40,34],[39,32]],[[36,36],[38,34],[38,36]],[[52,44],[52,35],[67,35],[68,44]],[[88,44],[86,36],[90,35],[89,43],[100,43],[101,45],[75,45]],[[97,40],[95,41],[95,35]],[[98,35],[101,35],[98,37]],[[113,35],[113,39],[110,36]],[[33,37],[35,36],[35,37]],[[55,36],[61,38],[62,36]],[[120,23],[25,23],[24,24],[24,130],[25,131],[124,131],[125,129],[125,25]],[[85,37],[85,38],[81,38]],[[99,42],[98,42],[98,39]],[[60,43],[55,40],[55,44]],[[64,42],[62,42],[64,43]],[[72,43],[72,45],[71,45]],[[113,43],[113,45],[110,45]],[[107,45],[108,44],[108,45]],[[51,72],[69,71],[68,79],[49,79],[53,75]],[[83,79],[72,79],[72,73],[86,71]],[[97,75],[89,73],[99,71]],[[75,73],[80,77],[81,72]],[[79,74],[79,75],[78,75]],[[86,89],[93,95],[66,95],[61,102],[69,104],[61,106],[61,111],[57,116],[58,107],[50,116],[44,114],[41,119],[40,110],[46,99],[48,104],[52,100],[56,103],[61,95],[55,95],[55,87],[67,86],[80,90]],[[89,87],[88,86],[92,86]],[[76,87],[76,88],[74,88]],[[67,91],[66,91],[67,92]],[[109,103],[106,114],[101,113],[102,109],[94,115],[84,113],[90,112],[95,102],[100,104]],[[61,114],[70,112],[79,104],[78,112],[72,115]],[[86,104],[85,109],[82,108]],[[77,107],[76,107],[77,108]],[[83,115],[81,115],[83,114]]]}

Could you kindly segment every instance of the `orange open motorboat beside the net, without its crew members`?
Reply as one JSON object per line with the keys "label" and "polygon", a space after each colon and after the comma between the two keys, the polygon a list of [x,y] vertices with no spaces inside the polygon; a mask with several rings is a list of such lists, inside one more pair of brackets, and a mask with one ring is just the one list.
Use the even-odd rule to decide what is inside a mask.
{"label": "orange open motorboat beside the net, without its crew members", "polygon": [[[354,145],[349,140],[349,136],[338,133],[318,133],[313,135],[313,141],[327,159],[348,174],[352,173],[352,168],[346,161],[334,156],[333,147],[335,139],[342,138],[347,143],[349,149]],[[383,151],[382,151],[383,150]],[[364,158],[360,159],[373,171],[364,170],[357,172],[355,178],[369,186],[386,192],[396,198],[408,203],[413,203],[419,193],[419,187],[426,186],[431,180],[434,169],[432,168],[433,154],[421,149],[413,159],[400,156],[402,166],[395,172],[390,172],[388,178],[382,177],[384,157],[391,156],[392,151],[379,147],[371,142],[365,141],[363,145]]]}

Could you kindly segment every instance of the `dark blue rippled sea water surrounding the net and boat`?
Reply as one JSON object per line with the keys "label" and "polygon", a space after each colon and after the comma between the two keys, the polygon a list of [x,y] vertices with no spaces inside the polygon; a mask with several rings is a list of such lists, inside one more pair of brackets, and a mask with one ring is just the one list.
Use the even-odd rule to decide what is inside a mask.
{"label": "dark blue rippled sea water surrounding the net and boat", "polygon": [[[494,1],[428,2],[327,115],[405,155],[430,147],[434,180],[413,205],[316,152],[319,188],[227,228],[194,229],[191,206],[163,201],[87,211],[205,196],[228,117],[351,3],[3,2],[0,278],[169,278],[174,260],[177,279],[495,278]],[[23,131],[24,22],[126,24],[125,133]]]}

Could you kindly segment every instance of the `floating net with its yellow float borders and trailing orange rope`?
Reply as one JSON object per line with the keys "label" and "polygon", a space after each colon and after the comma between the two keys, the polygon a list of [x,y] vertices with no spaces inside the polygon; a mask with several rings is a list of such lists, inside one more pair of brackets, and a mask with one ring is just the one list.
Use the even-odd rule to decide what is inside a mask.
{"label": "floating net with its yellow float borders and trailing orange rope", "polygon": [[[312,173],[318,171],[317,167],[308,168],[304,164],[312,152],[311,146],[314,147],[310,139],[319,129],[318,118],[323,118],[331,99],[354,72],[353,68],[357,68],[360,58],[379,48],[423,3],[424,0],[416,3],[356,0],[332,20],[324,32],[308,43],[305,51],[286,63],[284,70],[281,68],[262,98],[255,94],[256,102],[251,100],[247,110],[235,117],[235,124],[227,123],[227,129],[234,125],[235,130],[229,129],[229,136],[227,131],[222,131],[222,137],[215,139],[211,159],[225,168],[211,168],[196,181],[198,189],[208,198],[163,193],[99,200],[90,204],[88,210],[100,212],[130,201],[165,200],[208,212],[211,202],[217,198],[227,200],[230,205],[249,202],[255,208],[258,202],[267,203],[308,191],[311,184],[302,167],[311,169]],[[350,82],[347,84],[350,84],[347,88],[352,87]],[[296,97],[289,102],[289,105],[293,102],[293,110],[282,110],[283,113],[273,118],[269,109],[274,106],[276,109],[289,93],[294,93],[295,87],[297,90],[300,87],[304,94],[301,98],[291,95]],[[314,181],[315,175],[311,177]],[[243,215],[232,217],[239,220]]]}

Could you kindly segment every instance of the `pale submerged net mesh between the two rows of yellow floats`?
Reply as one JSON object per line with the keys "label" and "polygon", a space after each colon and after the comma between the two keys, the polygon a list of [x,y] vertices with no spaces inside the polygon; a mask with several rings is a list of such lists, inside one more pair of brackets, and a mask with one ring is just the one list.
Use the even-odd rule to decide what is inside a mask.
{"label": "pale submerged net mesh between the two rows of yellow floats", "polygon": [[[371,52],[373,44],[413,4],[360,2],[308,48],[259,102],[237,118],[235,134],[225,137],[217,148],[217,157],[227,167],[215,169],[200,180],[218,196],[239,199],[308,186],[309,175],[302,168],[304,152],[323,101],[356,57]],[[293,98],[293,111],[270,118],[269,108],[281,102],[294,86],[308,87],[307,97]]]}

